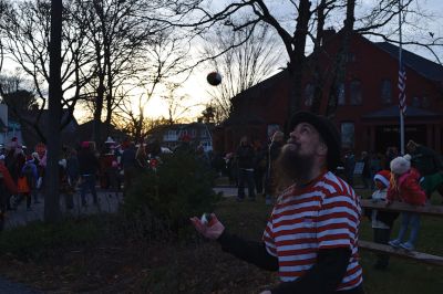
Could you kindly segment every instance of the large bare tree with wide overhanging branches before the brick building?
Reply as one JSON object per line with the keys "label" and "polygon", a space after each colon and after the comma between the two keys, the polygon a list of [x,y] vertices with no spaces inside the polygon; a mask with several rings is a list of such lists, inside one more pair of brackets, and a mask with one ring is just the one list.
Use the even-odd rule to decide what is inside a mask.
{"label": "large bare tree with wide overhanging branches before the brick building", "polygon": [[[405,3],[403,3],[403,10],[406,10],[409,13],[413,13],[415,15],[422,14],[420,4],[416,7],[416,9],[413,9],[411,6],[412,2],[420,3],[420,1],[416,0],[405,0]],[[360,4],[362,6],[363,3]],[[368,3],[364,4],[368,6]],[[378,35],[387,41],[393,41],[395,43],[395,40],[392,39],[392,35],[395,32],[396,27],[392,25],[392,20],[395,18],[395,15],[398,15],[398,9],[395,9],[396,4],[398,1],[392,0],[374,1],[372,7],[364,9],[362,14],[359,17],[361,18],[361,21],[358,22],[354,31],[364,34]],[[257,23],[268,23],[279,35],[287,51],[289,60],[288,72],[292,78],[292,88],[289,94],[290,96],[287,113],[289,116],[291,113],[293,113],[293,111],[299,108],[301,102],[301,77],[306,70],[306,53],[308,52],[307,36],[309,35],[315,44],[316,42],[321,44],[321,40],[317,40],[317,38],[322,38],[322,34],[313,33],[316,28],[313,24],[317,21],[324,21],[326,25],[334,25],[338,31],[343,31],[343,35],[347,35],[349,28],[352,30],[354,27],[353,20],[351,21],[350,19],[350,8],[354,6],[356,3],[353,0],[288,0],[280,1],[279,3],[253,0],[230,1],[228,3],[218,4],[217,7],[219,9],[213,11],[206,6],[206,1],[183,0],[169,3],[167,7],[164,7],[162,13],[152,15],[151,19],[161,19],[167,25],[189,28],[190,33],[194,34],[202,34],[219,23],[223,23],[235,31],[243,30],[245,28],[254,29],[256,28]],[[281,13],[282,7],[285,7],[285,11],[288,13]],[[239,15],[240,13],[248,12],[251,18],[238,18],[233,20],[233,15]],[[327,13],[333,15],[333,18],[324,19]],[[318,18],[312,18],[316,14]],[[410,24],[412,27],[412,23]],[[415,28],[418,25],[415,25]],[[318,23],[317,28],[322,30],[323,24]],[[391,28],[391,30],[388,30],[388,28]],[[392,30],[392,28],[394,29]],[[429,35],[427,31],[425,35]],[[338,61],[333,62],[338,69],[343,69],[342,61],[340,61],[340,59],[343,56],[342,53],[344,53],[347,50],[347,42],[348,41],[344,41],[344,43],[341,44],[341,54],[337,56]],[[422,42],[421,44],[426,48],[433,46],[435,49],[439,46],[439,44],[441,45],[441,38],[433,38],[431,42]],[[405,44],[419,43],[420,42],[410,41]],[[223,53],[225,52],[219,52],[219,54]],[[217,54],[217,56],[219,54]],[[342,73],[340,73],[340,75],[342,75]],[[318,81],[316,83],[327,81],[324,76],[318,76],[317,80]],[[340,77],[337,77],[337,81],[339,80]],[[316,96],[317,98],[321,97],[318,94]],[[329,101],[329,104],[332,106],[329,108],[329,112],[333,112],[333,98]],[[316,112],[319,111],[318,101],[315,105],[312,105],[312,109]]]}

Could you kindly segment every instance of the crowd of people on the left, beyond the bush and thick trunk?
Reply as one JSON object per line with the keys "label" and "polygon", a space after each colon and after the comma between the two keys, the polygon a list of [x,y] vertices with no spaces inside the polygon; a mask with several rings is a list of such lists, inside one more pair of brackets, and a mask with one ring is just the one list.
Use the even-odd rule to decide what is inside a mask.
{"label": "crowd of people on the left, beyond the bush and thick trunk", "polygon": [[[179,148],[185,148],[185,141]],[[189,147],[190,148],[190,147]],[[198,149],[198,148],[197,148]],[[63,146],[59,155],[60,195],[68,210],[74,208],[74,195],[80,193],[81,206],[99,204],[96,185],[107,197],[127,193],[134,178],[145,169],[156,169],[161,162],[161,145],[157,141],[134,144],[116,143],[111,137],[97,148],[94,141],[78,146]],[[23,146],[17,137],[0,151],[0,214],[14,211],[25,203],[25,210],[44,198],[47,148],[38,144]]]}

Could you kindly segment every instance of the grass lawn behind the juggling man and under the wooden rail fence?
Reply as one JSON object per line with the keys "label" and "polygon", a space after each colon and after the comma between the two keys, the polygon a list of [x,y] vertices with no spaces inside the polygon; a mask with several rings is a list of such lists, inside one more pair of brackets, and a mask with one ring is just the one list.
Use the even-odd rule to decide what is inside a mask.
{"label": "grass lawn behind the juggling man and under the wooden rail fence", "polygon": [[[359,192],[359,191],[358,191]],[[362,192],[363,197],[369,197]],[[439,199],[434,197],[433,199]],[[250,238],[260,238],[270,209],[261,202],[237,203],[226,200],[218,206],[217,213],[231,231]],[[398,231],[395,222],[393,235]],[[416,250],[443,256],[443,218],[422,217]],[[360,227],[360,240],[372,241],[372,229],[368,219]],[[443,293],[443,269],[401,258],[391,258],[387,271],[372,269],[374,254],[360,251],[367,294],[441,294]],[[236,292],[237,293],[237,292]],[[239,293],[239,292],[238,292]]]}

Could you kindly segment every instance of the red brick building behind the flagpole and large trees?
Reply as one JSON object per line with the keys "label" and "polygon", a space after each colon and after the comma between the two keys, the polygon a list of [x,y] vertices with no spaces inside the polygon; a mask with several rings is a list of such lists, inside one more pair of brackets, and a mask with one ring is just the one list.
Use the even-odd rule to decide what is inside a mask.
{"label": "red brick building behind the flagpole and large trees", "polygon": [[[323,44],[322,73],[330,73],[339,48],[339,34]],[[339,90],[336,124],[344,148],[384,153],[400,147],[398,107],[399,48],[374,43],[354,34],[351,38],[346,82]],[[414,139],[439,153],[443,147],[443,66],[403,50],[406,71],[405,141]],[[313,96],[312,76],[303,76],[302,108]],[[326,80],[321,112],[326,113],[332,74]],[[282,71],[233,98],[233,113],[214,136],[214,148],[228,153],[241,136],[266,141],[287,116],[290,77]],[[400,148],[399,148],[400,149]]]}

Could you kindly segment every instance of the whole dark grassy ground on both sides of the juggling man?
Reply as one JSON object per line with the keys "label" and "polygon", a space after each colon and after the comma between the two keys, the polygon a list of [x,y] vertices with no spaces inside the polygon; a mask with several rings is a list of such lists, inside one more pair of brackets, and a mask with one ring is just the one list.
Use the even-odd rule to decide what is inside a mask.
{"label": "whole dark grassy ground on both sides of the juggling man", "polygon": [[[215,212],[230,232],[259,240],[270,210],[262,197],[256,202],[224,198]],[[422,218],[418,251],[443,256],[442,222],[443,218]],[[194,232],[190,224],[188,229]],[[115,234],[112,230],[106,233]],[[8,235],[11,234],[3,234]],[[0,255],[0,275],[50,293],[245,294],[259,293],[278,283],[275,273],[224,253],[216,242],[203,240],[196,233],[186,241],[166,243],[134,242],[126,240],[127,235],[112,239],[100,234],[100,238],[103,240],[89,241],[83,246],[61,243],[65,248],[48,254],[43,261]],[[372,240],[367,219],[362,221],[360,239]],[[389,269],[380,272],[372,269],[373,253],[360,254],[367,294],[443,293],[442,267],[392,258]]]}

